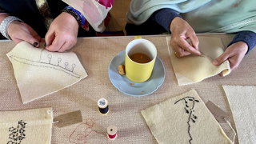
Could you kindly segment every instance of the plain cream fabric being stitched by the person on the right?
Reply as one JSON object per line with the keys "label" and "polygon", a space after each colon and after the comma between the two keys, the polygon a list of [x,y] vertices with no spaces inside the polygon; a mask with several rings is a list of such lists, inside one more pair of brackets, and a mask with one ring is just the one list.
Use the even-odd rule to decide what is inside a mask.
{"label": "plain cream fabric being stitched by the person on the right", "polygon": [[[228,61],[223,62],[220,66],[212,64],[212,61],[224,52],[221,38],[198,36],[198,39],[201,56],[190,55],[177,58],[171,47],[169,48],[178,86],[201,82],[203,79],[210,78],[222,71],[224,76],[230,74],[230,63]],[[167,38],[167,42],[170,46],[170,38]]]}

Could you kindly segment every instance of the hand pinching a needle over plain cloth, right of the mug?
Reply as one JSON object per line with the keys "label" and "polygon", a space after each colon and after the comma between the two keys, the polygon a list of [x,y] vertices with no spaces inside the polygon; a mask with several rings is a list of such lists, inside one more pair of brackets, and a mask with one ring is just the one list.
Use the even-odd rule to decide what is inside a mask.
{"label": "hand pinching a needle over plain cloth, right of the mug", "polygon": [[201,55],[198,50],[198,37],[185,20],[179,17],[174,18],[170,23],[170,31],[170,46],[176,57],[181,58],[190,54]]}

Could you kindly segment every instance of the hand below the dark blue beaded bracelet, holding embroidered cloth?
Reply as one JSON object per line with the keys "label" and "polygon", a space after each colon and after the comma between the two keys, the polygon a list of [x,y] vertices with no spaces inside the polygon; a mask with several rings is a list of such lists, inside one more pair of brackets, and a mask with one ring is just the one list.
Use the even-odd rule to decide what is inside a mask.
{"label": "hand below the dark blue beaded bracelet, holding embroidered cloth", "polygon": [[46,34],[46,50],[70,50],[77,43],[78,27],[77,20],[71,14],[59,14],[50,24]]}

